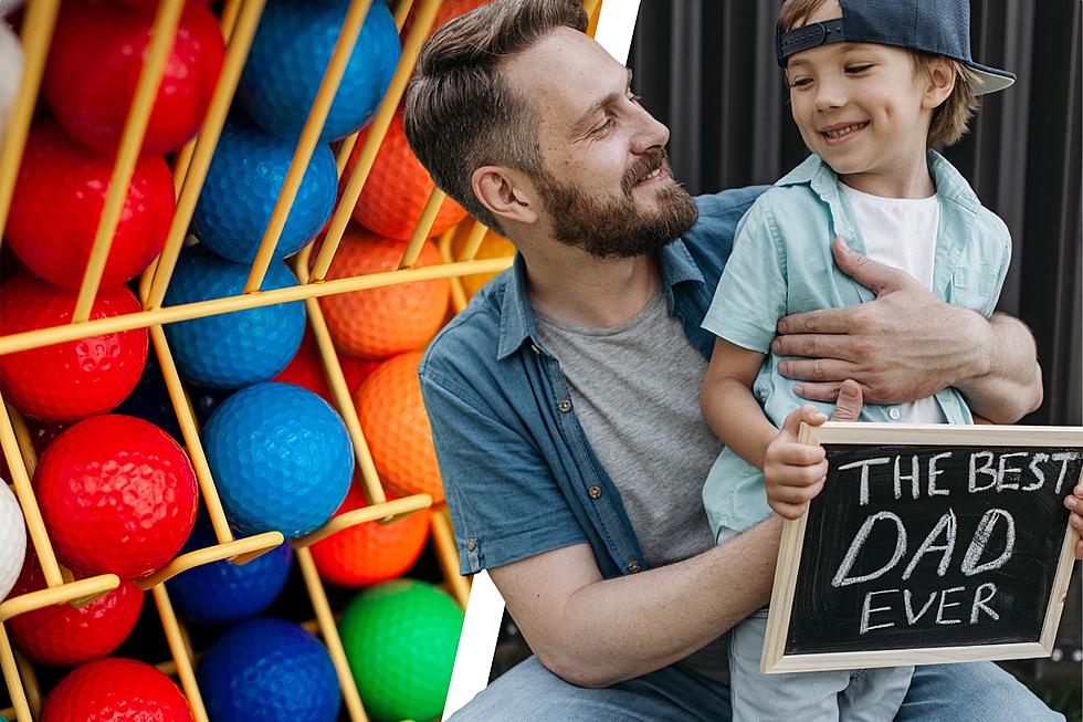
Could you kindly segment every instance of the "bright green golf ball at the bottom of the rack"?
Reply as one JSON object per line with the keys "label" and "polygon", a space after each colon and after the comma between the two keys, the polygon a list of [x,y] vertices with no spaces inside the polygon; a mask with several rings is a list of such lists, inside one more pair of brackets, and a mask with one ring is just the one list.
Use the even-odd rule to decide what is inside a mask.
{"label": "bright green golf ball at the bottom of the rack", "polygon": [[463,613],[424,582],[397,579],[359,594],[339,632],[357,691],[377,720],[430,720],[443,710]]}

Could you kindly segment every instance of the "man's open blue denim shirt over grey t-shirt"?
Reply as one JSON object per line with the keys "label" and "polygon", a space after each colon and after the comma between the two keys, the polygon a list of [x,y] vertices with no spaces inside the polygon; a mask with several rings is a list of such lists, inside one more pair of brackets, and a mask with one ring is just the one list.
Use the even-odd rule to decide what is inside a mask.
{"label": "man's open blue denim shirt over grey t-shirt", "polygon": [[[700,324],[737,221],[764,190],[697,198],[696,224],[659,253],[669,311],[704,356],[714,336]],[[433,339],[419,374],[463,574],[583,542],[606,577],[646,568],[560,365],[538,339],[522,257]]]}

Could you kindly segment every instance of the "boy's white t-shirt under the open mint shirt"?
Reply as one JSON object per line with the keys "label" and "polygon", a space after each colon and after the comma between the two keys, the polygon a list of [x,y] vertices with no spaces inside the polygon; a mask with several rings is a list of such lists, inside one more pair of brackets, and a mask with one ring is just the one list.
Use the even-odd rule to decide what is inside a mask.
{"label": "boy's white t-shirt under the open mint shirt", "polygon": [[[865,254],[874,261],[893,265],[933,287],[933,259],[936,255],[936,231],[940,223],[940,201],[928,198],[883,198],[839,184],[853,211],[865,241]],[[933,397],[901,405],[902,421],[907,423],[945,423],[947,419]]]}

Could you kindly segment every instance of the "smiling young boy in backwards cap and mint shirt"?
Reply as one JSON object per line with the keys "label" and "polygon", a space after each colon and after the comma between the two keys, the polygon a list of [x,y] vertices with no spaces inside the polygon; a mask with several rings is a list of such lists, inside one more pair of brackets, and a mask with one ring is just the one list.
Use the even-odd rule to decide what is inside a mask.
{"label": "smiling young boy in backwards cap and mint shirt", "polygon": [[[828,239],[905,270],[949,303],[992,313],[1010,258],[1008,230],[930,149],[966,132],[976,95],[1013,82],[974,63],[969,46],[968,0],[782,4],[776,54],[813,155],[742,220],[703,322],[717,336],[703,415],[726,443],[703,490],[717,541],[771,509],[790,519],[805,513],[827,473],[822,449],[778,431],[791,414],[816,422],[827,416],[799,408],[770,344],[781,316],[872,299],[834,266]],[[830,414],[827,405],[819,410]],[[953,388],[912,404],[865,406],[861,418],[972,421]],[[894,716],[912,668],[764,674],[766,617],[761,610],[734,630],[735,720]]]}

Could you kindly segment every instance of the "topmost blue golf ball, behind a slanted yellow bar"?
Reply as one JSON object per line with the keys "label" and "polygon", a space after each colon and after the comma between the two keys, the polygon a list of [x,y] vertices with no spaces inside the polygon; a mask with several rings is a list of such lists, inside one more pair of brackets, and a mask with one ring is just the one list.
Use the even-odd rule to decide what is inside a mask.
{"label": "topmost blue golf ball, behind a slanted yellow bar", "polygon": [[[271,133],[291,139],[301,133],[348,7],[345,0],[267,2],[236,98]],[[400,50],[391,11],[374,2],[346,63],[322,140],[344,138],[368,123],[391,82]]]}

